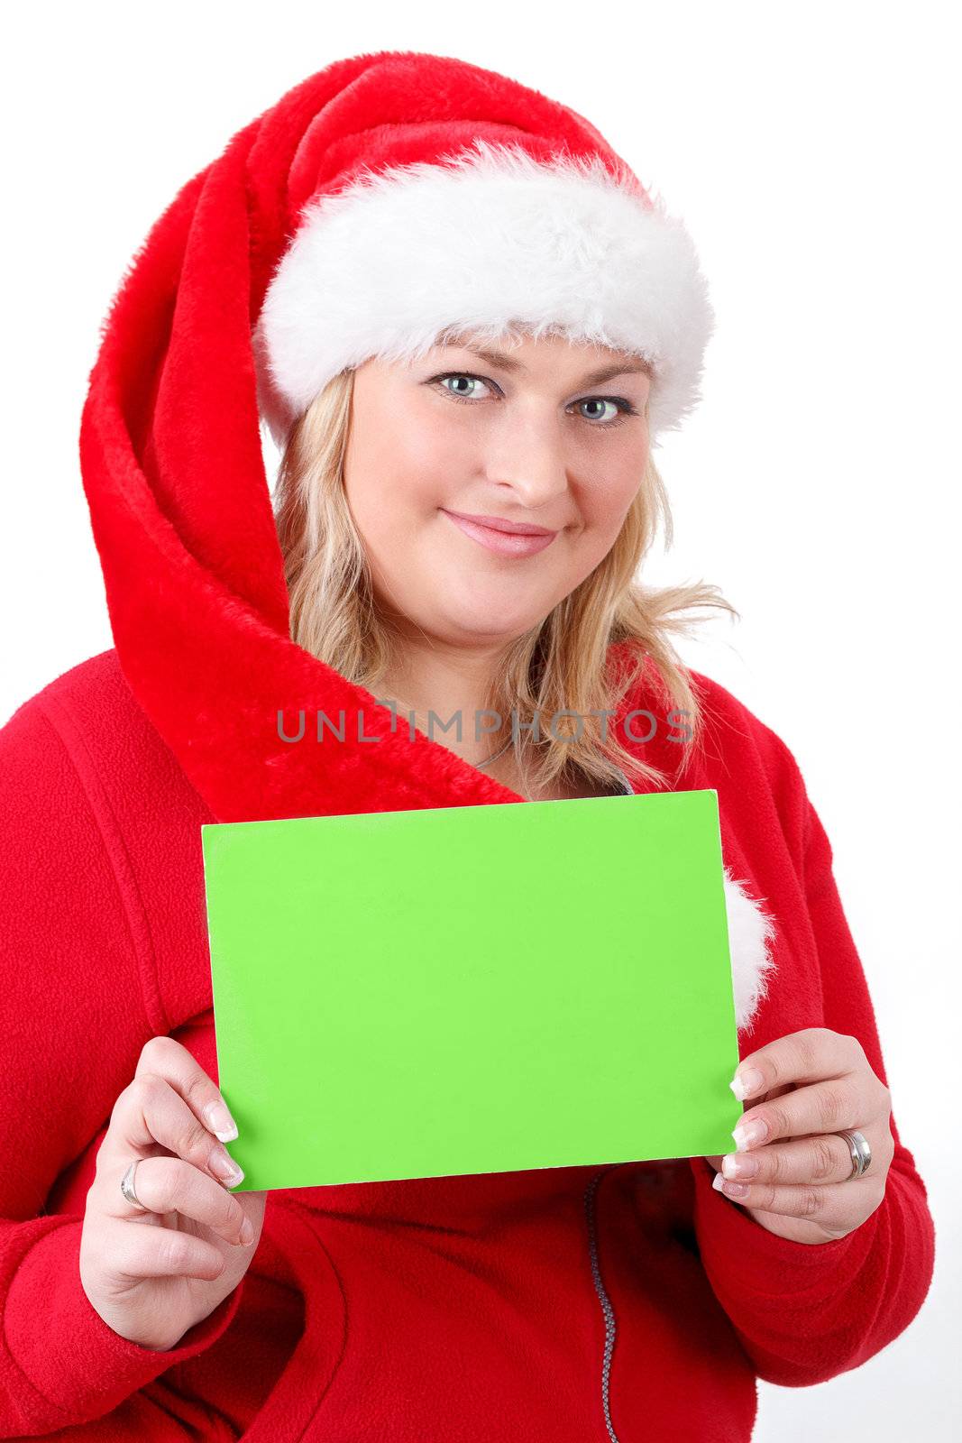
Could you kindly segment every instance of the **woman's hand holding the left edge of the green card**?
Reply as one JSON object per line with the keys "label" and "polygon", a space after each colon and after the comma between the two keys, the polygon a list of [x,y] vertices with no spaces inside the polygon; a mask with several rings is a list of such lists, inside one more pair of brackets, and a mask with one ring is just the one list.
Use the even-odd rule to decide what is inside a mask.
{"label": "woman's hand holding the left edge of the green card", "polygon": [[[218,1104],[216,1084],[187,1049],[151,1038],[97,1154],[81,1283],[104,1322],[143,1348],[175,1348],[234,1291],[257,1251],[267,1193],[228,1192],[244,1175],[213,1133],[229,1130],[224,1113],[205,1113]],[[134,1159],[149,1212],[120,1190]]]}

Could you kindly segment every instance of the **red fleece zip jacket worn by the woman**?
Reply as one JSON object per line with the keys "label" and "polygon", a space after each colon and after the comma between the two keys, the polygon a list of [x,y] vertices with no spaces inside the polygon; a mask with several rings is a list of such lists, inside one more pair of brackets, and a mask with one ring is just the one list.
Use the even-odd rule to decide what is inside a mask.
{"label": "red fleece zip jacket worn by the woman", "polygon": [[[795,759],[694,677],[710,742],[684,786],[717,789],[725,863],[776,922],[741,1055],[826,1026],[887,1081]],[[645,756],[666,766],[671,750]],[[216,1078],[200,857],[215,817],[114,651],[0,732],[0,817],[1,1436],[604,1443],[597,1264],[620,1443],[743,1443],[756,1378],[822,1382],[916,1316],[933,1224],[893,1120],[883,1203],[822,1245],[766,1232],[711,1189],[702,1157],[274,1192],[234,1294],[170,1352],[127,1342],[81,1286],[85,1195],[150,1036],[176,1036]]]}

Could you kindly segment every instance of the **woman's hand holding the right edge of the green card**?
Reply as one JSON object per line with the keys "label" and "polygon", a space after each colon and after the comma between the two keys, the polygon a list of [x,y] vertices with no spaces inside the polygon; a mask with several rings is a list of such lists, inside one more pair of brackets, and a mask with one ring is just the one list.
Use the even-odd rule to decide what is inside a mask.
{"label": "woman's hand holding the right edge of the green card", "polygon": [[[708,1159],[725,1177],[714,1186],[793,1242],[832,1242],[870,1218],[886,1195],[896,1144],[888,1088],[858,1039],[828,1027],[792,1032],[743,1058],[736,1079],[746,1084],[743,1091],[731,1084],[746,1100],[733,1131],[738,1150]],[[743,1133],[751,1124],[760,1128]],[[862,1133],[871,1147],[861,1177],[851,1177],[848,1141],[834,1136],[839,1128]],[[728,1182],[736,1175],[741,1193]]]}

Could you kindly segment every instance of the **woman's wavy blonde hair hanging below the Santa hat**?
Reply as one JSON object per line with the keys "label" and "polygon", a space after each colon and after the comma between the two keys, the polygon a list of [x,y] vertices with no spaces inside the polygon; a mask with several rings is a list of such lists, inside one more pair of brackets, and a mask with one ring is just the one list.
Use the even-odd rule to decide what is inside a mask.
{"label": "woman's wavy blonde hair hanging below the Santa hat", "polygon": [[[376,694],[397,657],[397,635],[376,606],[363,543],[345,494],[353,375],[348,369],[333,377],[293,427],[278,469],[274,514],[293,641]],[[531,727],[513,739],[529,789],[539,791],[561,775],[573,779],[578,772],[593,782],[617,784],[617,768],[648,785],[669,785],[663,772],[625,749],[616,727],[609,723],[606,734],[603,717],[593,714],[614,713],[649,661],[655,672],[649,670],[649,678],[663,690],[659,700],[687,719],[689,736],[679,742],[678,775],[688,765],[702,714],[671,636],[691,631],[695,622],[685,613],[695,608],[738,613],[715,586],[704,582],[656,589],[635,580],[659,522],[668,550],[671,508],[649,452],[642,483],[604,560],[544,620],[506,648],[486,706],[508,720],[512,710],[519,722],[539,719],[539,742]],[[609,648],[619,642],[627,644],[629,665],[613,674]]]}

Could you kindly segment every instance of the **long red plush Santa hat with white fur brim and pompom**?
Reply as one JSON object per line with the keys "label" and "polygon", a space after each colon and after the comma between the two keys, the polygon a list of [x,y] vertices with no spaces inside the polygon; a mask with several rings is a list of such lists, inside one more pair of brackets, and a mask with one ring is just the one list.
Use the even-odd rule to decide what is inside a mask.
{"label": "long red plush Santa hat with white fur brim and pompom", "polygon": [[[123,672],[218,821],[522,801],[291,641],[260,429],[283,443],[343,367],[506,322],[646,356],[652,434],[697,398],[711,312],[684,228],[583,117],[443,56],[312,75],[134,257],[84,486]],[[343,714],[346,742],[283,740],[300,710]]]}

